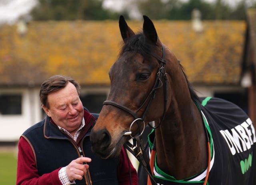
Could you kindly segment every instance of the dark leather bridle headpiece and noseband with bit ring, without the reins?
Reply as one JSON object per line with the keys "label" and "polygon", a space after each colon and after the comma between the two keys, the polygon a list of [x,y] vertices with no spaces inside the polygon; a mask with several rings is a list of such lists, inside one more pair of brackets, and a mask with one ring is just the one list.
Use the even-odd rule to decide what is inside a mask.
{"label": "dark leather bridle headpiece and noseband with bit ring, without the reins", "polygon": [[[145,122],[144,122],[144,117],[146,115],[146,113],[148,112],[148,108],[150,107],[150,104],[152,102],[152,100],[155,98],[156,96],[156,91],[158,89],[160,89],[162,86],[164,86],[164,113],[163,113],[163,116],[162,116],[162,119],[160,121],[160,123],[158,124],[158,126],[160,126],[160,124],[162,123],[162,121],[164,120],[164,116],[165,116],[165,113],[166,113],[166,102],[167,102],[167,97],[166,97],[166,94],[167,94],[167,90],[166,90],[166,81],[167,81],[167,75],[166,75],[166,70],[165,70],[165,65],[166,65],[166,59],[165,59],[165,49],[164,49],[164,45],[162,44],[162,52],[163,52],[163,55],[162,55],[162,58],[159,58],[158,56],[156,55],[153,55],[151,53],[151,55],[153,55],[159,62],[160,62],[160,66],[158,68],[158,73],[156,74],[156,82],[154,84],[154,87],[152,88],[152,90],[150,91],[150,93],[148,94],[147,98],[144,100],[144,102],[142,103],[142,105],[140,106],[140,108],[138,108],[138,110],[136,110],[135,112],[132,111],[130,108],[124,106],[124,105],[121,105],[119,104],[118,102],[114,102],[114,101],[111,101],[111,100],[106,100],[103,102],[103,105],[104,104],[110,104],[112,106],[115,106],[117,108],[120,108],[122,110],[124,110],[125,112],[128,112],[129,114],[131,114],[133,117],[134,117],[134,121],[132,122],[132,124],[134,124],[134,122],[137,122],[138,120],[140,120],[141,122],[144,123],[144,127],[142,129],[142,132],[140,133],[139,136],[142,135],[142,133],[144,132],[144,128],[145,128]],[[161,78],[164,77],[164,83],[162,83],[161,81]],[[148,99],[150,99],[148,101]],[[146,109],[144,110],[142,116],[139,118],[138,116],[138,112],[139,110],[146,104],[146,102],[148,101],[148,104],[146,105]],[[125,132],[124,135],[125,136],[128,136],[130,135],[132,137],[132,132],[131,132],[131,128],[132,128],[132,124],[130,125],[130,129],[128,132]],[[137,123],[138,124],[138,123]],[[158,126],[156,127],[152,127],[150,124],[148,124],[151,128],[158,128]],[[139,124],[138,124],[139,126]],[[140,126],[139,126],[139,130],[140,130]],[[132,137],[133,138],[133,137]]]}

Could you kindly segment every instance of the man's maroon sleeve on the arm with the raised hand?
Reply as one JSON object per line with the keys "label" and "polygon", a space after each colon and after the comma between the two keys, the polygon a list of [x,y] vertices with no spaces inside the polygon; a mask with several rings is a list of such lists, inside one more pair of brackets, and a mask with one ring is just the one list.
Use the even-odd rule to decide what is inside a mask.
{"label": "man's maroon sleeve on the arm with the raised hand", "polygon": [[20,138],[16,185],[61,185],[59,170],[60,168],[39,176],[33,150],[25,138]]}

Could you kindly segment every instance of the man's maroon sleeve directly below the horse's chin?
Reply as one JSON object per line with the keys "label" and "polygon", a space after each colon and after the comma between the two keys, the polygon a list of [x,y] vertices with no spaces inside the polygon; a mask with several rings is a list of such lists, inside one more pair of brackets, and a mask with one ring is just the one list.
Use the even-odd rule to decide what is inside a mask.
{"label": "man's maroon sleeve directly below the horse's chin", "polygon": [[138,185],[138,175],[136,169],[133,167],[130,159],[125,154],[124,147],[120,153],[120,163],[118,166],[118,184],[119,185],[130,185],[130,172],[129,172],[129,163],[130,163],[130,172],[132,185]]}

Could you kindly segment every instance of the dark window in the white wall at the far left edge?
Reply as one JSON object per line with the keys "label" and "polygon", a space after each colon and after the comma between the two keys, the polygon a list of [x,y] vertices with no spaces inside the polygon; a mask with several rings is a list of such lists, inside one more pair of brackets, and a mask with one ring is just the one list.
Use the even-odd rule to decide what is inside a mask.
{"label": "dark window in the white wall at the far left edge", "polygon": [[21,94],[1,94],[0,95],[0,114],[21,114]]}

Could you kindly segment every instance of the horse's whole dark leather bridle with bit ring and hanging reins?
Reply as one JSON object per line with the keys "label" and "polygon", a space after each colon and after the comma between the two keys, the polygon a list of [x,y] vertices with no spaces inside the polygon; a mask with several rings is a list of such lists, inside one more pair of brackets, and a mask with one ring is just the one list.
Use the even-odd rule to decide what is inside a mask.
{"label": "horse's whole dark leather bridle with bit ring and hanging reins", "polygon": [[[134,121],[130,124],[130,129],[128,132],[124,133],[124,136],[129,136],[133,139],[133,144],[131,144],[130,142],[127,142],[124,146],[127,150],[129,150],[137,159],[138,161],[142,164],[142,166],[144,167],[144,169],[146,170],[146,172],[148,173],[148,176],[151,180],[152,184],[157,184],[156,181],[154,181],[153,175],[152,175],[152,169],[150,168],[150,164],[149,164],[149,160],[148,157],[146,155],[145,152],[145,147],[144,147],[144,142],[142,140],[142,134],[144,132],[145,129],[145,122],[144,122],[144,118],[146,113],[148,112],[148,109],[150,107],[150,104],[152,102],[152,100],[155,98],[156,96],[156,92],[158,89],[160,89],[161,87],[164,88],[164,112],[162,115],[162,119],[159,122],[159,124],[157,126],[151,126],[150,124],[148,124],[151,128],[156,129],[160,126],[160,124],[162,123],[162,121],[164,120],[165,114],[166,114],[166,104],[167,104],[167,73],[165,70],[165,65],[166,65],[166,59],[165,59],[165,48],[164,45],[162,44],[162,58],[160,58],[158,55],[154,55],[154,53],[150,53],[153,57],[155,57],[159,63],[160,66],[158,68],[158,73],[156,74],[156,81],[154,84],[154,87],[152,88],[152,90],[150,91],[150,93],[148,94],[148,96],[146,97],[146,99],[144,100],[144,102],[141,104],[141,106],[134,112],[132,111],[130,108],[119,104],[118,102],[112,101],[112,100],[106,100],[103,102],[103,105],[105,104],[109,104],[112,106],[115,106],[117,108],[120,108],[121,110],[124,110],[125,112],[128,112],[129,114],[131,114],[134,117]],[[162,82],[162,77],[164,77],[164,83]],[[148,102],[148,103],[147,103]],[[146,104],[147,103],[147,104]],[[144,107],[146,105],[146,108],[142,114],[141,117],[138,116],[138,112],[139,110]],[[140,132],[140,124],[138,124],[138,121],[143,122],[144,126],[142,131]],[[138,124],[138,128],[139,128],[139,133],[136,136],[132,136],[132,125],[134,123]]]}

